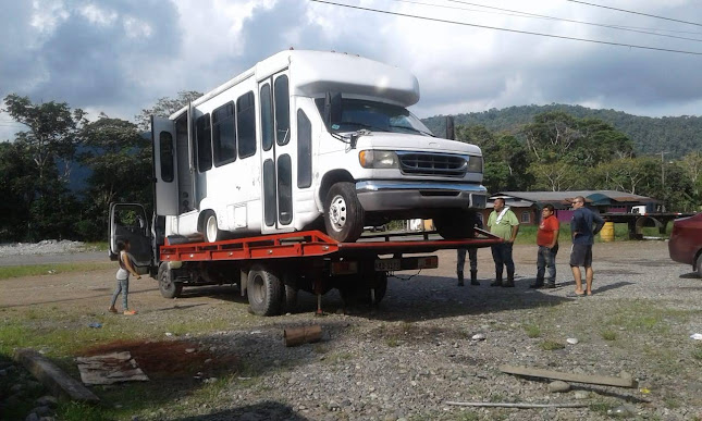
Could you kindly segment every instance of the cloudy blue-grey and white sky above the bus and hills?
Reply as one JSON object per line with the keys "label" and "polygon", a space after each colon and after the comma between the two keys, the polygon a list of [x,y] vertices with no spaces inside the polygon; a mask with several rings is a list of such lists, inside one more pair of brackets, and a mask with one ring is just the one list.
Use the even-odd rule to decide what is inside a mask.
{"label": "cloudy blue-grey and white sky above the bus and hills", "polygon": [[[476,25],[702,53],[702,3],[331,0]],[[423,4],[420,4],[423,3]],[[471,3],[471,4],[467,4]],[[685,40],[479,7],[636,27]],[[207,91],[280,50],[358,53],[415,73],[419,116],[552,102],[700,115],[702,55],[393,16],[309,0],[0,0],[0,96],[133,120],[158,98]],[[0,140],[22,129],[0,113]]]}

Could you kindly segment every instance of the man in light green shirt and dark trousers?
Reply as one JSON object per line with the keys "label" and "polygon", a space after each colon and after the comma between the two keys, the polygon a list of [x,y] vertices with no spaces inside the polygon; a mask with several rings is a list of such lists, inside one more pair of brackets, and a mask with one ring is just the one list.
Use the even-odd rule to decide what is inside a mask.
{"label": "man in light green shirt and dark trousers", "polygon": [[[505,199],[496,198],[493,211],[488,218],[488,228],[497,237],[502,244],[492,246],[492,259],[495,261],[495,282],[490,286],[515,286],[515,262],[512,259],[512,246],[519,232],[517,215],[505,206]],[[503,268],[507,268],[507,281],[502,282]]]}

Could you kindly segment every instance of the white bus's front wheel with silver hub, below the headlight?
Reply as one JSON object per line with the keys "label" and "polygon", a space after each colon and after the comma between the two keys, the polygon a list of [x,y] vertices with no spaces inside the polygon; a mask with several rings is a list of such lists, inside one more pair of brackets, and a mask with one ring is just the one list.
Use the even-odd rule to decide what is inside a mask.
{"label": "white bus's front wheel with silver hub, below the headlight", "polygon": [[324,199],[327,234],[341,243],[354,243],[364,232],[364,207],[354,183],[336,183]]}

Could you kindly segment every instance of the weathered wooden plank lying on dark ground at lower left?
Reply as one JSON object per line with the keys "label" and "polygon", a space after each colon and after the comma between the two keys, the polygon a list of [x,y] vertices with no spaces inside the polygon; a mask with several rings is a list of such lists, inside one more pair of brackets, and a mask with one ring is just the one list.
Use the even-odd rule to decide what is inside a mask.
{"label": "weathered wooden plank lying on dark ground at lower left", "polygon": [[20,349],[14,358],[21,362],[54,396],[66,396],[72,400],[98,403],[100,398],[88,391],[81,382],[59,369],[48,358],[34,349]]}

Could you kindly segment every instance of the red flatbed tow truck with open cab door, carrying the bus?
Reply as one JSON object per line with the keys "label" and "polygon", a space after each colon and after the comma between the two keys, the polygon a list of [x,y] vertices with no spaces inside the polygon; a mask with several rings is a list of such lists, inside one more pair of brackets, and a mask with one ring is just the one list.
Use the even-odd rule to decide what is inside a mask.
{"label": "red flatbed tow truck with open cab door, carrying the bus", "polygon": [[333,288],[347,305],[374,306],[385,296],[387,277],[395,271],[439,267],[438,256],[406,255],[502,242],[475,228],[475,237],[451,240],[438,239],[433,233],[398,233],[340,243],[320,231],[305,231],[190,243],[163,238],[153,228],[156,219],[151,228],[144,221],[140,205],[110,206],[111,259],[116,260],[116,240],[128,239],[137,271],[156,278],[163,297],[176,298],[185,286],[236,284],[259,315],[294,310],[298,290],[317,296],[317,313],[322,313],[322,295]]}

